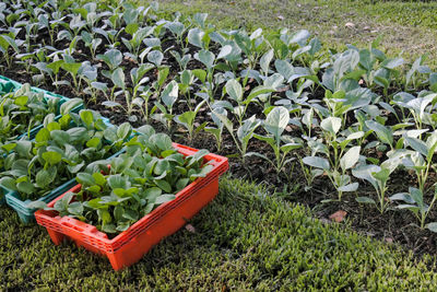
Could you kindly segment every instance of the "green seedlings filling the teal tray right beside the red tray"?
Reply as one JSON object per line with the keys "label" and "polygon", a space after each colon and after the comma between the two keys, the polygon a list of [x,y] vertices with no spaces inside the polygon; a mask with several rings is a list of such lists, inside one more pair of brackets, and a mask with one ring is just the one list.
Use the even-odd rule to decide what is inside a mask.
{"label": "green seedlings filling the teal tray right beside the red tray", "polygon": [[114,129],[116,138],[108,135],[111,128],[116,127],[106,126],[97,113],[88,109],[63,115],[59,121],[47,120],[34,141],[15,142],[4,162],[0,185],[19,191],[23,200],[44,197],[91,162],[121,150],[120,137],[127,138],[130,128]]}

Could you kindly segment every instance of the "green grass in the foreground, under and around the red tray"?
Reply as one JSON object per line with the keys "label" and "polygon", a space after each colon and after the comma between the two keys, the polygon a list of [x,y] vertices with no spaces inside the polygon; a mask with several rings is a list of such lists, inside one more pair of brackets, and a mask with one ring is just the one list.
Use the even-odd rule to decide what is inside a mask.
{"label": "green grass in the foreground, under and around the red tray", "polygon": [[181,230],[120,272],[39,226],[23,226],[0,208],[0,290],[434,291],[434,258],[416,260],[306,208],[269,196],[262,186],[224,178],[218,197]]}

